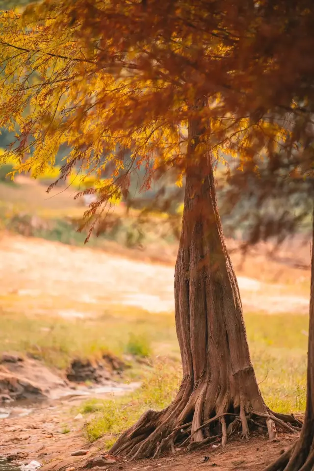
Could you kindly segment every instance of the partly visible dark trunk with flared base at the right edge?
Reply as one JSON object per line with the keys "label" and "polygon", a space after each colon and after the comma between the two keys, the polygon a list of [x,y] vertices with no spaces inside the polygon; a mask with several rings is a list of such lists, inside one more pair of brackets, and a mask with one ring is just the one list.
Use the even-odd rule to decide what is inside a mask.
{"label": "partly visible dark trunk with flared base at the right edge", "polygon": [[312,241],[312,275],[308,347],[307,403],[304,424],[295,445],[265,471],[312,471],[314,469],[314,209]]}

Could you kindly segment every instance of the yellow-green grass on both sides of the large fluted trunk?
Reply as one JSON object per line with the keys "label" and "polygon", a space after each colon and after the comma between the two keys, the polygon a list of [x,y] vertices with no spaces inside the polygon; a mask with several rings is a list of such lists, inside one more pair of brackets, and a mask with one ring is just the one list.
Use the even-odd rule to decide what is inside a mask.
{"label": "yellow-green grass on both sides of the large fluted trunk", "polygon": [[[1,299],[0,303],[4,305]],[[158,407],[161,401],[166,405],[173,397],[171,394],[176,390],[171,378],[173,369],[177,371],[177,375],[180,375],[181,370],[173,314],[148,315],[146,311],[137,308],[112,306],[94,319],[66,320],[60,317],[49,318],[47,315],[8,312],[0,315],[0,351],[30,352],[47,365],[59,368],[68,366],[75,356],[97,358],[105,351],[118,356],[126,351],[130,352],[130,339],[136,333],[135,338],[141,341],[132,340],[132,348],[136,345],[137,353],[147,354],[148,350],[143,345],[146,345],[145,348],[148,345],[150,356],[154,358],[162,355],[163,358],[168,358],[168,363],[164,369],[158,370],[153,379],[150,375],[156,373],[148,366],[137,365],[128,370],[128,378],[131,380],[143,378],[143,387],[128,398],[112,400],[109,406],[117,406],[119,409],[122,404],[122,409],[127,408],[129,411],[128,404],[131,404],[130,414],[134,418],[150,407],[149,404]],[[308,316],[246,314],[245,324],[256,377],[261,383],[260,388],[267,405],[278,412],[304,411]],[[132,352],[135,353],[135,350]],[[170,358],[178,360],[170,361]],[[156,386],[157,379],[162,383],[161,386]],[[156,391],[160,394],[161,387],[168,392],[156,397]],[[97,404],[86,406],[84,413],[94,413],[97,417],[101,415],[98,411],[99,401]],[[104,425],[98,426],[97,420],[90,425],[91,437],[105,433],[102,431],[105,430]],[[120,423],[119,420],[117,419],[117,423]],[[120,425],[116,425],[112,433],[119,433],[126,425],[121,422],[121,430],[119,427]]]}

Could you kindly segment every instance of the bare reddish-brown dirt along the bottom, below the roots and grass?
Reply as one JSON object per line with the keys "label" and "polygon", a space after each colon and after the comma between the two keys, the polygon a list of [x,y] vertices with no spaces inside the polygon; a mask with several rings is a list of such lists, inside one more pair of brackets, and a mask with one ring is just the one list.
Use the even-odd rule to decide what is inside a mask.
{"label": "bare reddish-brown dirt along the bottom, below the roots and grass", "polygon": [[[58,404],[57,408],[46,404],[32,414],[31,422],[29,417],[2,420],[0,454],[7,456],[20,453],[20,456],[23,456],[19,460],[20,464],[35,459],[43,465],[41,471],[77,471],[87,468],[94,471],[153,471],[156,468],[164,471],[196,471],[207,468],[218,471],[259,471],[297,438],[297,434],[278,433],[277,440],[269,442],[266,437],[252,436],[248,442],[234,439],[224,448],[213,448],[210,445],[193,453],[179,450],[176,455],[167,455],[156,460],[127,462],[124,459],[116,459],[115,463],[107,467],[90,467],[88,463],[91,460],[104,456],[103,440],[93,444],[86,442],[82,434],[83,419],[75,419],[75,412],[69,417],[68,408],[69,403]],[[71,430],[68,434],[62,433],[64,422]],[[73,451],[81,449],[88,451],[88,454],[71,456]]]}

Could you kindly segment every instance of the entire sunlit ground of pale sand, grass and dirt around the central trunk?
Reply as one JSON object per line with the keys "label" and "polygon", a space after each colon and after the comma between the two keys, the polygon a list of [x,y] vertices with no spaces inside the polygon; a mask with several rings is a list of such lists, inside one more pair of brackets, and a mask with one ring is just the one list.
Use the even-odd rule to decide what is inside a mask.
{"label": "entire sunlit ground of pale sand, grass and dirt around the central trunk", "polygon": [[[25,192],[22,186],[9,187],[10,191],[0,186],[0,203],[2,199],[6,205],[7,198],[15,208],[25,197],[29,211],[33,211],[32,205],[37,213],[38,207],[47,212],[47,205],[58,214],[60,207],[64,213],[70,210],[69,194],[62,193],[62,201],[57,203],[53,198],[43,200],[43,188],[33,188]],[[32,191],[42,203],[34,203]],[[0,456],[23,451],[22,462],[38,460],[44,471],[73,466],[78,470],[94,453],[105,453],[116,434],[144,410],[162,408],[172,400],[181,375],[173,316],[176,243],[158,246],[157,242],[154,239],[141,250],[114,241],[83,247],[79,241],[66,245],[0,232],[0,353],[20,352],[63,376],[75,356],[97,359],[104,351],[111,351],[131,358],[131,363],[137,359],[119,381],[142,382],[138,390],[124,397],[107,395],[98,397],[96,403],[73,397],[49,399],[42,406],[19,404],[20,411],[14,409],[9,418],[0,419]],[[238,242],[228,240],[228,246],[265,401],[278,412],[302,413],[309,244],[301,245],[295,239],[275,255],[271,245],[264,244],[245,259]],[[23,417],[29,407],[30,414]],[[75,419],[78,413],[83,418]],[[157,462],[119,461],[108,466],[113,470],[122,466],[127,471],[160,466],[167,471],[215,464],[218,470],[260,470],[295,437],[280,433],[275,443],[252,437],[248,444],[231,442],[225,449],[205,448],[188,455],[180,450],[178,455]],[[81,448],[89,450],[87,457],[70,456]],[[209,456],[209,461],[203,464],[204,456]]]}

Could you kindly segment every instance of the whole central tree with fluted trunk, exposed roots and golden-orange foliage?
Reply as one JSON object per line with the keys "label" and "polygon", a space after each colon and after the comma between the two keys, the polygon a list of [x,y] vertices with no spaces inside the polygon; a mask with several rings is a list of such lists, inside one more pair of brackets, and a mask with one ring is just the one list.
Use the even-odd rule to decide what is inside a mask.
{"label": "whole central tree with fluted trunk, exposed roots and golden-orange foliage", "polygon": [[147,411],[126,431],[112,454],[156,456],[174,443],[193,448],[217,436],[225,445],[228,434],[241,429],[248,438],[262,422],[269,438],[274,421],[300,426],[262,399],[215,195],[222,153],[241,149],[249,158],[252,132],[278,132],[251,120],[236,87],[243,15],[250,23],[255,11],[244,0],[58,0],[1,19],[0,127],[17,132],[11,152],[18,171],[44,171],[62,144],[71,152],[61,179],[77,162],[99,173],[113,162],[111,178],[87,190],[99,194],[87,220],[110,198],[128,195],[134,165],[124,164],[124,149],[132,150],[131,163],[145,165],[144,189],[168,168],[178,184],[185,178],[175,268],[182,385],[166,409]]}

